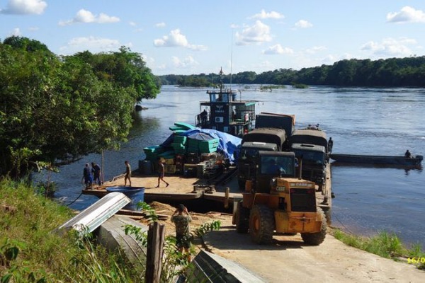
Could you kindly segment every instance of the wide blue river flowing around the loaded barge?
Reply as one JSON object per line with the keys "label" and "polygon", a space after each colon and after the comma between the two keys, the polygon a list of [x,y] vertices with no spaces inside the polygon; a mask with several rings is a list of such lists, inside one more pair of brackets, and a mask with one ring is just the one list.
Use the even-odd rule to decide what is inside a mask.
{"label": "wide blue river flowing around the loaded barge", "polygon": [[[425,154],[425,90],[422,88],[334,88],[311,86],[261,92],[259,86],[234,86],[237,99],[258,100],[257,112],[293,114],[296,127],[319,123],[334,140],[334,153],[403,155]],[[155,100],[143,101],[147,110],[135,113],[135,122],[120,151],[104,153],[105,180],[132,169],[143,159],[143,148],[164,141],[174,122],[193,124],[199,101],[208,100],[206,88],[163,86]],[[55,197],[69,203],[81,188],[84,163],[101,163],[99,154],[60,168],[52,176]],[[332,225],[350,233],[371,236],[394,232],[405,243],[425,247],[425,175],[421,169],[333,166]],[[44,179],[47,175],[44,175]],[[97,198],[82,195],[70,207],[84,209]]]}

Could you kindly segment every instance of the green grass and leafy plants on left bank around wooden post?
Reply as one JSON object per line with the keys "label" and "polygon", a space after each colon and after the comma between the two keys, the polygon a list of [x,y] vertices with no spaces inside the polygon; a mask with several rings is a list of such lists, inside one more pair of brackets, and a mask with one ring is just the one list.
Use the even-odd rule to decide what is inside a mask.
{"label": "green grass and leafy plants on left bank around wooden post", "polygon": [[[147,212],[148,223],[157,221],[149,204],[138,206]],[[0,282],[145,282],[145,261],[133,264],[120,252],[111,253],[96,244],[91,233],[52,233],[74,215],[40,188],[0,179]],[[204,223],[191,231],[192,241],[219,229],[220,221]],[[123,230],[147,247],[147,235],[140,227],[128,225]],[[196,253],[195,246],[190,252]],[[176,252],[174,236],[166,236],[161,282],[171,282],[184,272],[191,272],[187,255]]]}

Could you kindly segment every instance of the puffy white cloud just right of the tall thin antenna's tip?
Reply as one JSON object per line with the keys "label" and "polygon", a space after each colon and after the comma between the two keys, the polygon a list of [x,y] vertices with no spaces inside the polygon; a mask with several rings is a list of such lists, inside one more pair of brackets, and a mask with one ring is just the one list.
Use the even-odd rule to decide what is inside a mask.
{"label": "puffy white cloud just right of the tall thin antenna's tip", "polygon": [[271,41],[270,27],[261,21],[256,21],[254,25],[236,33],[237,45],[261,44],[261,42]]}

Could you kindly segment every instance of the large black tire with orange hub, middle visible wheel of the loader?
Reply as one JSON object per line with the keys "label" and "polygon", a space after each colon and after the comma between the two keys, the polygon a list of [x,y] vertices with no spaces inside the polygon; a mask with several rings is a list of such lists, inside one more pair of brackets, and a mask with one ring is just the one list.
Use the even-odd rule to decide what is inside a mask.
{"label": "large black tire with orange hub, middle visible wheel of the loader", "polygon": [[262,204],[256,204],[249,215],[249,233],[252,241],[259,244],[271,243],[274,231],[274,214]]}

